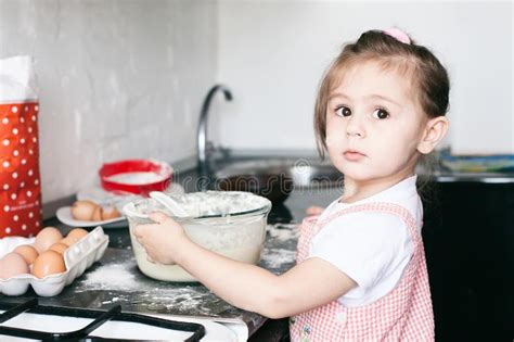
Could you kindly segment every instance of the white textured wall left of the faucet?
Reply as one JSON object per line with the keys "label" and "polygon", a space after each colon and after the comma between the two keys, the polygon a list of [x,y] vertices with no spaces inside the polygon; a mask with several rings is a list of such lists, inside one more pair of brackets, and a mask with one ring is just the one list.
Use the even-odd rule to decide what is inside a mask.
{"label": "white textured wall left of the faucet", "polygon": [[103,162],[192,156],[216,42],[214,1],[0,0],[0,58],[35,60],[43,202]]}

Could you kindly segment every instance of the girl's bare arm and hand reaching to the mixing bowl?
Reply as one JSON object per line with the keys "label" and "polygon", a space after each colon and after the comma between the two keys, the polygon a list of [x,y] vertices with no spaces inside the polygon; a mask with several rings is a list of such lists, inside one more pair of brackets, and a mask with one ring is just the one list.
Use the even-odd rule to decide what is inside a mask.
{"label": "girl's bare arm and hand reaching to the mixing bowl", "polygon": [[228,303],[270,318],[288,317],[326,304],[357,286],[321,258],[308,258],[282,276],[210,252],[194,242],[183,228],[162,213],[158,224],[141,225],[134,235],[149,257],[177,263]]}

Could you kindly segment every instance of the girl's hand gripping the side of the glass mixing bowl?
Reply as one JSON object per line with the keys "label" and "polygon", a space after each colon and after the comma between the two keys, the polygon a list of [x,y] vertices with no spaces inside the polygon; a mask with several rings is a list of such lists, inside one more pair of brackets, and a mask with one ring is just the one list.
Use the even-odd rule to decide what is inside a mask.
{"label": "girl's hand gripping the side of the glass mixing bowl", "polygon": [[169,216],[155,212],[150,214],[150,219],[156,224],[139,225],[133,229],[133,235],[144,248],[150,262],[164,265],[177,263],[180,246],[188,240],[182,226]]}

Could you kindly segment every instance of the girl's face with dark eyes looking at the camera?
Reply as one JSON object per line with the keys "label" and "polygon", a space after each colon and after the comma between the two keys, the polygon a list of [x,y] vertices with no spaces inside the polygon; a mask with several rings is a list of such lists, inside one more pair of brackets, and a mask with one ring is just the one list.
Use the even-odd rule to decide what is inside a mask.
{"label": "girl's face with dark eyes looking at the camera", "polygon": [[387,181],[413,174],[428,119],[406,75],[370,61],[347,69],[332,91],[326,145],[345,181]]}

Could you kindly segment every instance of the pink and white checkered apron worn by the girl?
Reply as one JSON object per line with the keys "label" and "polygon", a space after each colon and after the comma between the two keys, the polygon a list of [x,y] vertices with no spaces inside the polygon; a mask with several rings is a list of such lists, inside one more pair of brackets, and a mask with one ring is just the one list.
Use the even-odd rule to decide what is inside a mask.
{"label": "pink and white checkered apron worn by the girl", "polygon": [[309,253],[312,238],[333,219],[356,212],[385,212],[403,219],[414,252],[396,288],[371,304],[345,307],[337,300],[291,318],[292,341],[434,341],[434,314],[423,240],[415,219],[390,203],[356,205],[318,221],[307,217],[300,225],[297,263]]}

